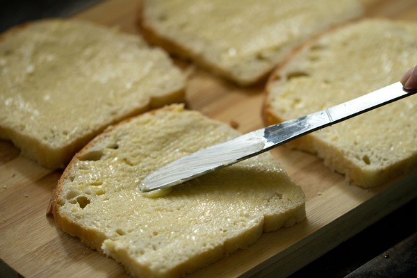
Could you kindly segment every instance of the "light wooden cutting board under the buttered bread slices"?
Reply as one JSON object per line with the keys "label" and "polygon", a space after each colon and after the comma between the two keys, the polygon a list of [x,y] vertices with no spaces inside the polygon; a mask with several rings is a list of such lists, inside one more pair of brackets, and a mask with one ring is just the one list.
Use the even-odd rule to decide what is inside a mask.
{"label": "light wooden cutting board under the buttered bread slices", "polygon": [[[417,20],[415,0],[363,0],[366,17]],[[106,26],[138,33],[138,1],[108,0],[76,15]],[[237,125],[242,132],[263,126],[263,85],[242,89],[193,65],[188,108]],[[378,186],[349,186],[318,158],[281,147],[272,154],[306,193],[307,220],[289,229],[263,234],[240,250],[190,277],[242,275],[286,277],[409,200],[417,197],[417,172]],[[129,277],[121,265],[60,231],[46,216],[60,171],[51,171],[19,156],[0,140],[0,259],[24,277]]]}

